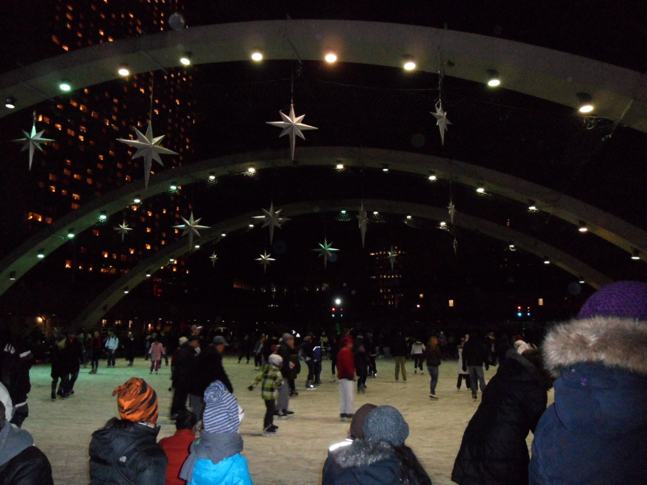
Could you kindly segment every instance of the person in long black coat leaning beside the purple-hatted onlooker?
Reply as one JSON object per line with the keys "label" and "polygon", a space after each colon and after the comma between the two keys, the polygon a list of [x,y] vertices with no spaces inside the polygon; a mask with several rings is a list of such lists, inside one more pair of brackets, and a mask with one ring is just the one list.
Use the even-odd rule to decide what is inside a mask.
{"label": "person in long black coat leaning beside the purple-hatted onlooker", "polygon": [[526,350],[523,356],[509,350],[465,429],[452,481],[459,485],[527,484],[526,437],[546,409],[551,383],[539,350]]}

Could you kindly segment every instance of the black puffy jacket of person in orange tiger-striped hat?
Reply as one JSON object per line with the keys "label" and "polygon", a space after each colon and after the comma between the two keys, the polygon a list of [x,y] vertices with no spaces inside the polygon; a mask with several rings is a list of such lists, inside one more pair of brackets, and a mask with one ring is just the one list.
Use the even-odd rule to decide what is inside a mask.
{"label": "black puffy jacket of person in orange tiger-striped hat", "polygon": [[92,433],[91,485],[164,485],[168,458],[159,444],[160,428],[111,419]]}

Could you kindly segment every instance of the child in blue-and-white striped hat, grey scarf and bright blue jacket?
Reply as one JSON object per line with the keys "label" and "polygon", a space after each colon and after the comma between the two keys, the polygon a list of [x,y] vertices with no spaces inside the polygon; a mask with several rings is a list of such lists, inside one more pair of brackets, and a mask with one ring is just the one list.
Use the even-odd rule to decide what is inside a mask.
{"label": "child in blue-and-white striped hat, grey scarf and bright blue jacket", "polygon": [[191,445],[180,478],[187,485],[252,485],[247,458],[241,455],[242,415],[236,398],[216,381],[204,391],[204,402],[204,429]]}

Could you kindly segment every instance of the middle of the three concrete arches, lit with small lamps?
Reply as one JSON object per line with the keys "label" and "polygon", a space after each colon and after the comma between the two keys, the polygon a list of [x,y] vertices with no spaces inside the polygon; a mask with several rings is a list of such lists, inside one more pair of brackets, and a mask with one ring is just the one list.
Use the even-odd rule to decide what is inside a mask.
{"label": "middle of the three concrete arches, lit with small lamps", "polygon": [[[382,169],[382,164],[387,163],[393,170],[424,176],[433,170],[439,177],[449,178],[461,184],[483,184],[487,191],[518,200],[523,204],[529,199],[535,200],[540,209],[574,225],[579,221],[586,221],[589,232],[629,253],[634,249],[643,252],[647,248],[647,232],[618,217],[538,184],[483,167],[432,155],[353,147],[300,147],[298,155],[300,167],[330,166],[332,169],[336,164],[342,163],[346,166]],[[136,196],[142,199],[153,197],[168,190],[171,184],[182,186],[198,182],[205,180],[210,174],[220,177],[242,173],[247,171],[248,167],[265,169],[291,166],[293,163],[287,150],[248,152],[210,158],[157,173],[150,178],[148,189],[144,188],[143,180],[127,184],[61,217],[0,261],[0,295],[14,283],[15,280],[10,279],[12,272],[16,272],[16,279],[19,279],[40,261],[39,250],[44,250],[45,255],[51,253],[67,241],[69,229],[74,228],[74,232],[79,233],[90,228],[101,211],[112,215],[124,207],[131,206]]]}

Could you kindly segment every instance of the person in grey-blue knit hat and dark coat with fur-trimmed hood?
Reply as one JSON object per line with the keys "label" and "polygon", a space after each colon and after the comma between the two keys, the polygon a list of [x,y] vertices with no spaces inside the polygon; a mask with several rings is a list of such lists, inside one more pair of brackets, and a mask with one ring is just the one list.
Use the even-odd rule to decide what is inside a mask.
{"label": "person in grey-blue knit hat and dark coat with fur-trimmed hood", "polygon": [[364,437],[329,449],[322,485],[432,485],[404,444],[409,425],[393,406],[378,406],[364,419]]}

